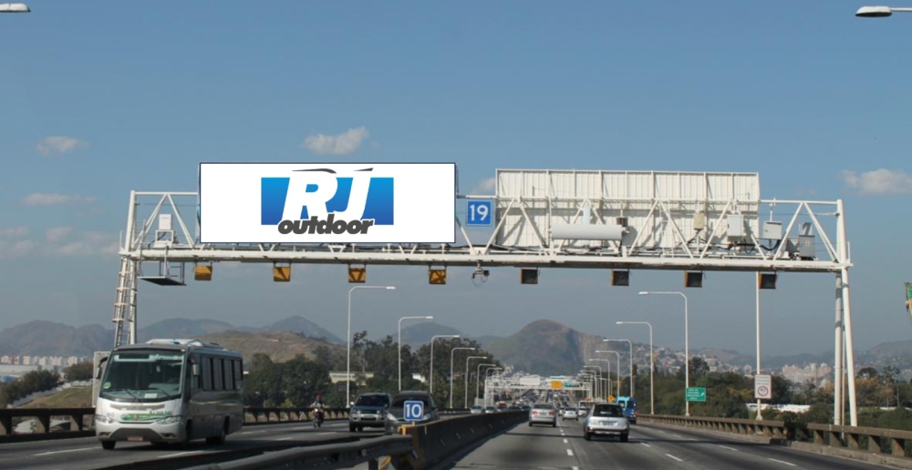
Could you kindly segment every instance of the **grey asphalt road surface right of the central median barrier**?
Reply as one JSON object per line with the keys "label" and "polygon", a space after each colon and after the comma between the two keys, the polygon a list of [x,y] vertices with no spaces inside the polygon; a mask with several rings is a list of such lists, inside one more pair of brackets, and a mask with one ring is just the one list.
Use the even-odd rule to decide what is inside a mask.
{"label": "grey asphalt road surface right of the central median barrier", "polygon": [[882,470],[886,467],[756,444],[673,427],[631,426],[630,441],[583,439],[582,420],[550,426],[520,424],[445,468],[481,469],[681,469],[681,470]]}

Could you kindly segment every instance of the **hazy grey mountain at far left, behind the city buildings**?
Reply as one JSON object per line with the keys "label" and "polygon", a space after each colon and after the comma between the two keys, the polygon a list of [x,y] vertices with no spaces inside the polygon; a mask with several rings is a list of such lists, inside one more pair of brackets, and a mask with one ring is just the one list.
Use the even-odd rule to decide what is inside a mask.
{"label": "hazy grey mountain at far left, behind the city buildings", "polygon": [[0,355],[91,356],[110,349],[113,330],[101,325],[73,327],[36,320],[0,332]]}

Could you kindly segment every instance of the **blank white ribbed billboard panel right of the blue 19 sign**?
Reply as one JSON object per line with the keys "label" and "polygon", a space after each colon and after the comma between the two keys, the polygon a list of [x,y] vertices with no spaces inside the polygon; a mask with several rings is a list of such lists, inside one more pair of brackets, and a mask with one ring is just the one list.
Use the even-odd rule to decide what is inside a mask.
{"label": "blank white ribbed billboard panel right of the blue 19 sign", "polygon": [[[757,173],[498,169],[495,184],[496,220],[503,220],[495,243],[503,246],[547,247],[570,231],[602,235],[562,240],[565,248],[636,242],[637,249],[673,250],[696,235],[718,244],[759,233]],[[735,214],[741,219],[731,220],[749,234],[729,230]],[[579,225],[603,227],[568,227]],[[549,233],[554,228],[559,236]]]}

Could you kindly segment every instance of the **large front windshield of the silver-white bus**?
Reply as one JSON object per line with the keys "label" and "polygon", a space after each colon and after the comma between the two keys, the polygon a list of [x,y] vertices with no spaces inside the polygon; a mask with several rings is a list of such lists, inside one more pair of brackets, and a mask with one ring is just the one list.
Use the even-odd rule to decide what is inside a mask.
{"label": "large front windshield of the silver-white bus", "polygon": [[119,402],[161,402],[181,396],[183,354],[129,351],[111,354],[102,398]]}

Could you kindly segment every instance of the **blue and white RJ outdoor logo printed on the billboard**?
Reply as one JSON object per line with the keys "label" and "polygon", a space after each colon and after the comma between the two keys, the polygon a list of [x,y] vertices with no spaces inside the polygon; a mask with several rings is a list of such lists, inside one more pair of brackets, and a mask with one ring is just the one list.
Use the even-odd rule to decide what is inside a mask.
{"label": "blue and white RJ outdoor logo printed on the billboard", "polygon": [[283,235],[367,234],[374,225],[393,225],[393,178],[371,177],[372,170],[338,176],[333,169],[298,169],[261,178],[260,223]]}

